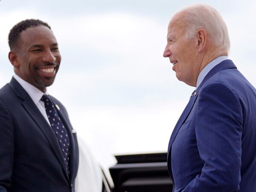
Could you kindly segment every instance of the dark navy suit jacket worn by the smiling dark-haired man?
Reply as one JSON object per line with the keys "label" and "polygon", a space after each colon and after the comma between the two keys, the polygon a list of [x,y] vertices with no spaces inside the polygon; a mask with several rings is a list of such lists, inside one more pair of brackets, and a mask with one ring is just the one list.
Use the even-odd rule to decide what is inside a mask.
{"label": "dark navy suit jacket worn by the smiling dark-haired man", "polygon": [[78,144],[67,111],[55,98],[70,138],[70,177],[54,131],[20,84],[0,89],[0,192],[71,192]]}

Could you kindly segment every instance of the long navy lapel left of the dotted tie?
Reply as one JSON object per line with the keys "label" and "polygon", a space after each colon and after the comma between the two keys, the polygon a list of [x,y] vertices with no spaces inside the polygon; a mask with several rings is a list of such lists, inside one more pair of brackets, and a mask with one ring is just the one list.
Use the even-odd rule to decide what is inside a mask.
{"label": "long navy lapel left of the dotted tie", "polygon": [[57,156],[59,163],[61,163],[61,166],[65,172],[67,179],[69,179],[64,158],[61,153],[61,148],[54,131],[52,130],[48,122],[44,119],[44,116],[38,110],[37,106],[32,101],[28,93],[26,93],[23,87],[21,87],[21,85],[14,78],[12,78],[10,85],[17,94],[17,96],[24,100],[22,103],[23,107],[26,109],[26,111],[29,113],[32,119],[34,119],[38,127],[44,133],[45,137],[47,137],[47,140],[52,146],[52,149],[55,152],[55,155]]}

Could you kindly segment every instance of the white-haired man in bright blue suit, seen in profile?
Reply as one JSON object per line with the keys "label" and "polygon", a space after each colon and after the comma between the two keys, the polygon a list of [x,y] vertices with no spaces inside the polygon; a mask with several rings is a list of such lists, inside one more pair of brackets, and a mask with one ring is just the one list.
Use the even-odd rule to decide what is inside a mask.
{"label": "white-haired man in bright blue suit, seen in profile", "polygon": [[256,192],[256,90],[227,59],[227,26],[211,6],[177,12],[164,57],[196,87],[168,147],[173,192]]}

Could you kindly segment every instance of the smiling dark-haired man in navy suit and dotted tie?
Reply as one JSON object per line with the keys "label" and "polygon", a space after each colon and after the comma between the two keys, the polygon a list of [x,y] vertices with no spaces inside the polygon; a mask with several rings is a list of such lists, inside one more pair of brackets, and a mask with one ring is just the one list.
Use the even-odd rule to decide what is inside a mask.
{"label": "smiling dark-haired man in navy suit and dotted tie", "polygon": [[15,75],[0,89],[0,191],[73,192],[76,131],[50,86],[61,62],[50,26],[24,20],[9,33]]}

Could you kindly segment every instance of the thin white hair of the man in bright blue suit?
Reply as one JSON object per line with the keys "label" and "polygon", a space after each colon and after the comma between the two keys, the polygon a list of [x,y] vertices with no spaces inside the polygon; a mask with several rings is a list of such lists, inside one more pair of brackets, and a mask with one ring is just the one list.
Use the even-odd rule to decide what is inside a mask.
{"label": "thin white hair of the man in bright blue suit", "polygon": [[220,51],[229,51],[230,38],[227,25],[216,9],[206,4],[195,4],[177,14],[181,12],[185,15],[180,21],[187,27],[187,38],[194,38],[198,29],[205,29],[212,43]]}

